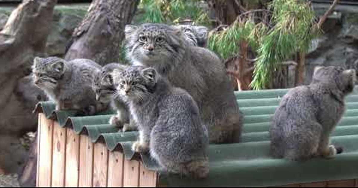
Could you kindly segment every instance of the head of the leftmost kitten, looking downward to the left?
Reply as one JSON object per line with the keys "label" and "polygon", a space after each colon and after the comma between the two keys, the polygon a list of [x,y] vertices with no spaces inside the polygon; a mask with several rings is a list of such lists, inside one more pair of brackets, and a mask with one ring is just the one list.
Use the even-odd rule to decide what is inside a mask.
{"label": "head of the leftmost kitten, looking downward to the left", "polygon": [[57,57],[35,57],[32,66],[34,84],[45,90],[54,89],[66,71],[64,64],[65,61]]}

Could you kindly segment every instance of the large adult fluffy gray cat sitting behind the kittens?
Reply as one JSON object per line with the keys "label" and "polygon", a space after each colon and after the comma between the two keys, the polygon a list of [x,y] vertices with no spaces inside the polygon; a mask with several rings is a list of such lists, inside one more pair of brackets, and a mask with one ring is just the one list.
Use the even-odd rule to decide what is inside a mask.
{"label": "large adult fluffy gray cat sitting behind the kittens", "polygon": [[210,143],[240,140],[239,108],[221,60],[194,46],[182,30],[164,24],[126,25],[126,56],[134,65],[153,67],[197,102]]}

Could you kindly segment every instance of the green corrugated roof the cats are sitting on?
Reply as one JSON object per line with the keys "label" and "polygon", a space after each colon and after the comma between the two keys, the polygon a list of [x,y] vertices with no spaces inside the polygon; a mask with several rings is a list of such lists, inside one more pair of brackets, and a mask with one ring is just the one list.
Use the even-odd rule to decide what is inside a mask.
{"label": "green corrugated roof the cats are sitting on", "polygon": [[[287,89],[236,92],[240,110],[245,114],[241,143],[210,145],[210,174],[207,179],[193,180],[177,175],[160,174],[168,186],[275,186],[292,183],[358,178],[358,87],[346,98],[347,111],[332,134],[332,143],[343,146],[335,159],[289,162],[269,156],[269,121]],[[75,111],[55,112],[52,102],[41,102],[36,112],[57,119],[59,125],[87,134],[92,142],[102,140],[109,150],[123,150],[126,159],[135,155],[131,145],[138,133],[118,132],[108,124],[114,111],[95,116],[76,116]],[[155,170],[158,165],[147,154],[140,155],[144,165]]]}

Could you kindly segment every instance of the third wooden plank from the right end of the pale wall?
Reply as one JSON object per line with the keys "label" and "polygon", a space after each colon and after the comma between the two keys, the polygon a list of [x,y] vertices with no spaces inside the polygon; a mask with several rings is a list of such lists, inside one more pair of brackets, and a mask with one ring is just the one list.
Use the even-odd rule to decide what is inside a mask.
{"label": "third wooden plank from the right end of the pale wall", "polygon": [[108,187],[123,186],[124,155],[120,151],[109,152]]}

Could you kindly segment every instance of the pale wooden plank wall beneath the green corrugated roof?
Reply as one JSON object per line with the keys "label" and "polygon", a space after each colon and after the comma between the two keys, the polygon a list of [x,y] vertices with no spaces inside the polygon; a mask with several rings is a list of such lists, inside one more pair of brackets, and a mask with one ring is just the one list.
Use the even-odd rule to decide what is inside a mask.
{"label": "pale wooden plank wall beneath the green corrugated roof", "polygon": [[[159,187],[158,173],[121,151],[93,144],[87,135],[39,114],[37,187]],[[161,184],[160,186],[164,186]],[[289,187],[358,187],[358,180],[292,184]],[[287,187],[287,186],[282,186]]]}

